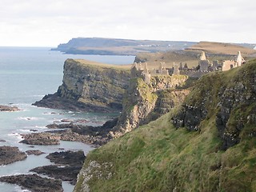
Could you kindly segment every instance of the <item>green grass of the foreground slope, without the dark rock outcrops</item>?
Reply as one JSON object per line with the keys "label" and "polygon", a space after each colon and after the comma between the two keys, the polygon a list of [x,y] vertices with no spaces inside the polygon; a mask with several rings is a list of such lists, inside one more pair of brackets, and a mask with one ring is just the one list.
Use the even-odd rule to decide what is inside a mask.
{"label": "green grass of the foreground slope, without the dark rock outcrops", "polygon": [[[221,75],[226,82],[245,71],[255,73],[256,61],[217,76]],[[244,79],[246,81],[246,76]],[[222,84],[214,83],[205,88],[214,93],[221,87]],[[195,86],[186,102],[196,103],[196,98],[202,99],[205,88]],[[213,105],[211,103],[208,105]],[[238,106],[235,111],[247,114],[255,108],[255,103],[251,102],[246,109],[242,107]],[[210,111],[200,122],[200,131],[189,131],[173,126],[172,118],[181,109],[176,107],[156,121],[91,151],[74,191],[88,191],[88,187],[90,191],[127,192],[256,191],[255,123],[248,120],[240,130],[240,142],[220,150],[222,139],[216,127],[217,111]],[[231,113],[230,117],[234,115]]]}

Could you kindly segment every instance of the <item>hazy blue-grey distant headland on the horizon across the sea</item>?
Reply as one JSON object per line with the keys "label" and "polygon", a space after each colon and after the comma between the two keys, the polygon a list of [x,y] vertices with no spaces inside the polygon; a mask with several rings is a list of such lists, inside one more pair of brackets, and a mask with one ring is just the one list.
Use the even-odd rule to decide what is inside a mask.
{"label": "hazy blue-grey distant headland on the horizon across the sea", "polygon": [[72,38],[52,50],[66,54],[136,55],[140,52],[182,50],[195,42],[132,40],[120,38]]}

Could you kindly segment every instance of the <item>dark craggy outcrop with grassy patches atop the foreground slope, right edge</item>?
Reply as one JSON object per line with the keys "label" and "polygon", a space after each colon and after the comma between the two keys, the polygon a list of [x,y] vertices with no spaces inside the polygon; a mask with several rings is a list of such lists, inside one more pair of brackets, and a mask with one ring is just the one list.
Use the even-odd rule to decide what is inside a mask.
{"label": "dark craggy outcrop with grassy patches atop the foreground slope, right edge", "polygon": [[[201,122],[215,117],[222,149],[240,141],[245,125],[256,123],[256,68],[250,62],[228,73],[208,74],[202,77],[182,109],[173,118],[174,126],[200,130]],[[199,88],[198,88],[199,87]],[[254,135],[255,132],[248,134]]]}

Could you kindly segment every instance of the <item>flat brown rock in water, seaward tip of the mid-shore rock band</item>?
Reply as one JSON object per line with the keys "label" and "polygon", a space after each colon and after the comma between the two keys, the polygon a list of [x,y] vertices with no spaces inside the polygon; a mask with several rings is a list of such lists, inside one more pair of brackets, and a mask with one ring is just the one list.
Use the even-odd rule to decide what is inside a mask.
{"label": "flat brown rock in water, seaward tip of the mid-shore rock band", "polygon": [[55,134],[50,133],[33,133],[33,134],[22,134],[24,140],[21,143],[26,143],[29,145],[58,145],[60,137]]}

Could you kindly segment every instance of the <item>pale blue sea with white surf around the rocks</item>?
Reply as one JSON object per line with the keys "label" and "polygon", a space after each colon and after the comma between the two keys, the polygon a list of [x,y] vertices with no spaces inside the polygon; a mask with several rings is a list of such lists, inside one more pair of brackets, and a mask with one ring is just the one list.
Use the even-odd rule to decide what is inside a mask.
{"label": "pale blue sea with white surf around the rocks", "polygon": [[[84,120],[86,125],[100,126],[118,114],[101,114],[39,108],[31,104],[46,94],[53,94],[62,84],[63,64],[67,58],[82,58],[110,64],[130,64],[134,56],[62,54],[50,47],[0,47],[0,105],[18,106],[17,112],[0,112],[0,146],[18,146],[19,150],[41,150],[46,154],[28,155],[26,160],[0,166],[0,177],[14,174],[33,174],[31,169],[52,164],[46,155],[55,151],[94,150],[82,142],[61,142],[58,146],[31,146],[19,143],[21,134],[49,130],[46,125],[62,119]],[[41,175],[43,176],[43,175]],[[43,176],[46,177],[46,176]],[[62,182],[65,192],[74,186]],[[20,186],[0,182],[1,192],[20,192]]]}

